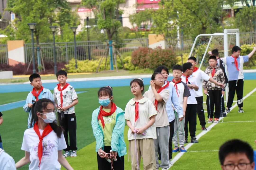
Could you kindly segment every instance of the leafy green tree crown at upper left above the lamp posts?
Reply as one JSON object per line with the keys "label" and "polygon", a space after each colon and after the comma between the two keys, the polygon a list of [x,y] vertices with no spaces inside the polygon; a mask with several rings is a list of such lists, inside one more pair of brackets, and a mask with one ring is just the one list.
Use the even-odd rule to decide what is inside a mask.
{"label": "leafy green tree crown at upper left above the lamp posts", "polygon": [[[34,30],[36,44],[39,41],[49,41],[51,30],[49,26],[57,21],[61,26],[70,22],[71,9],[65,0],[10,0],[7,10],[16,14],[16,19],[4,33],[10,40],[30,41],[30,30],[27,23],[35,22]],[[64,19],[64,20],[63,20]]]}

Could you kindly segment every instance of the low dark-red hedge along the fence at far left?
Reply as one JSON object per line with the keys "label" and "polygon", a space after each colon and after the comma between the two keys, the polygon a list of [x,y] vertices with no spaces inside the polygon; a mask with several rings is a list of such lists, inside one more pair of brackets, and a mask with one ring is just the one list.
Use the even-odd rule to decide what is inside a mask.
{"label": "low dark-red hedge along the fence at far left", "polygon": [[[66,62],[58,62],[56,64],[57,71],[65,68]],[[39,74],[54,74],[54,62],[44,62],[45,71],[42,69]],[[36,72],[38,72],[37,63],[35,65]],[[23,74],[32,74],[33,73],[33,64],[30,64],[29,69],[28,63],[18,63],[15,66],[9,66],[8,64],[0,64],[0,71],[13,71],[13,75],[23,75]]]}

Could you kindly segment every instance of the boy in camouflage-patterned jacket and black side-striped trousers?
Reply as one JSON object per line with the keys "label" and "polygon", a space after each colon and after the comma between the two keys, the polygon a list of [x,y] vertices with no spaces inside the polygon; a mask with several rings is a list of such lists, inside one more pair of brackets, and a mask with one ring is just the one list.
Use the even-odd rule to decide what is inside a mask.
{"label": "boy in camouflage-patterned jacket and black side-striped trousers", "polygon": [[[212,79],[217,81],[220,84],[225,83],[225,76],[223,71],[219,66],[217,66],[217,58],[216,56],[209,57],[209,66],[205,69],[205,73],[209,75]],[[207,105],[207,113],[208,113],[208,123],[218,123],[220,118],[221,112],[221,95],[224,95],[224,91],[222,87],[211,83],[210,81],[203,81],[202,84],[204,88],[204,93],[208,94],[206,99]],[[209,101],[210,100],[210,101]],[[215,105],[215,112],[214,112],[214,105]],[[213,121],[213,114],[214,114],[214,121]]]}

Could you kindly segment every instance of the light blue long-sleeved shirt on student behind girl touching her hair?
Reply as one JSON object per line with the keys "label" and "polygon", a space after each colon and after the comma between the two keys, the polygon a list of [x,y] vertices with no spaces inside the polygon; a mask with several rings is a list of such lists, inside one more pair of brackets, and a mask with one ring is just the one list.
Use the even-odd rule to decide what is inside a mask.
{"label": "light blue long-sleeved shirt on student behind girl touching her hair", "polygon": [[[166,84],[167,84],[167,81],[165,81],[164,85],[166,85]],[[151,90],[151,89],[152,89],[151,86],[149,86],[148,90]],[[178,98],[178,95],[176,93],[174,86],[170,83],[169,86],[166,87],[165,89],[168,89],[170,92],[169,99],[166,103],[166,111],[167,111],[167,116],[168,116],[169,122],[172,122],[175,119],[172,104],[173,104],[174,108],[177,110],[179,118],[183,117],[183,108],[179,104],[179,98]]]}

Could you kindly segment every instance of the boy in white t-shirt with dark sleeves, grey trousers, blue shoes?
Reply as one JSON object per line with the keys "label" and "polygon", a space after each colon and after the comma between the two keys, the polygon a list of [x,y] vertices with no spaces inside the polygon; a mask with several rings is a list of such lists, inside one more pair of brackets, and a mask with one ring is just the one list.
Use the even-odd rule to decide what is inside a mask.
{"label": "boy in white t-shirt with dark sleeves, grey trousers, blue shoes", "polygon": [[[186,83],[182,82],[181,76],[182,76],[182,66],[179,64],[173,66],[173,80],[170,82],[176,90],[176,93],[179,98],[179,104],[181,107],[183,107],[183,118],[186,115],[186,108],[187,108],[187,99],[190,96],[190,92],[188,89],[188,86]],[[173,136],[173,145],[174,149],[173,152],[178,152],[179,150],[181,152],[187,152],[184,148],[184,142],[185,142],[185,134],[184,134],[184,125],[185,120],[181,120],[177,112],[175,113],[175,122],[174,122],[174,136]],[[179,137],[179,142],[178,142]],[[179,146],[178,146],[179,144]]]}

